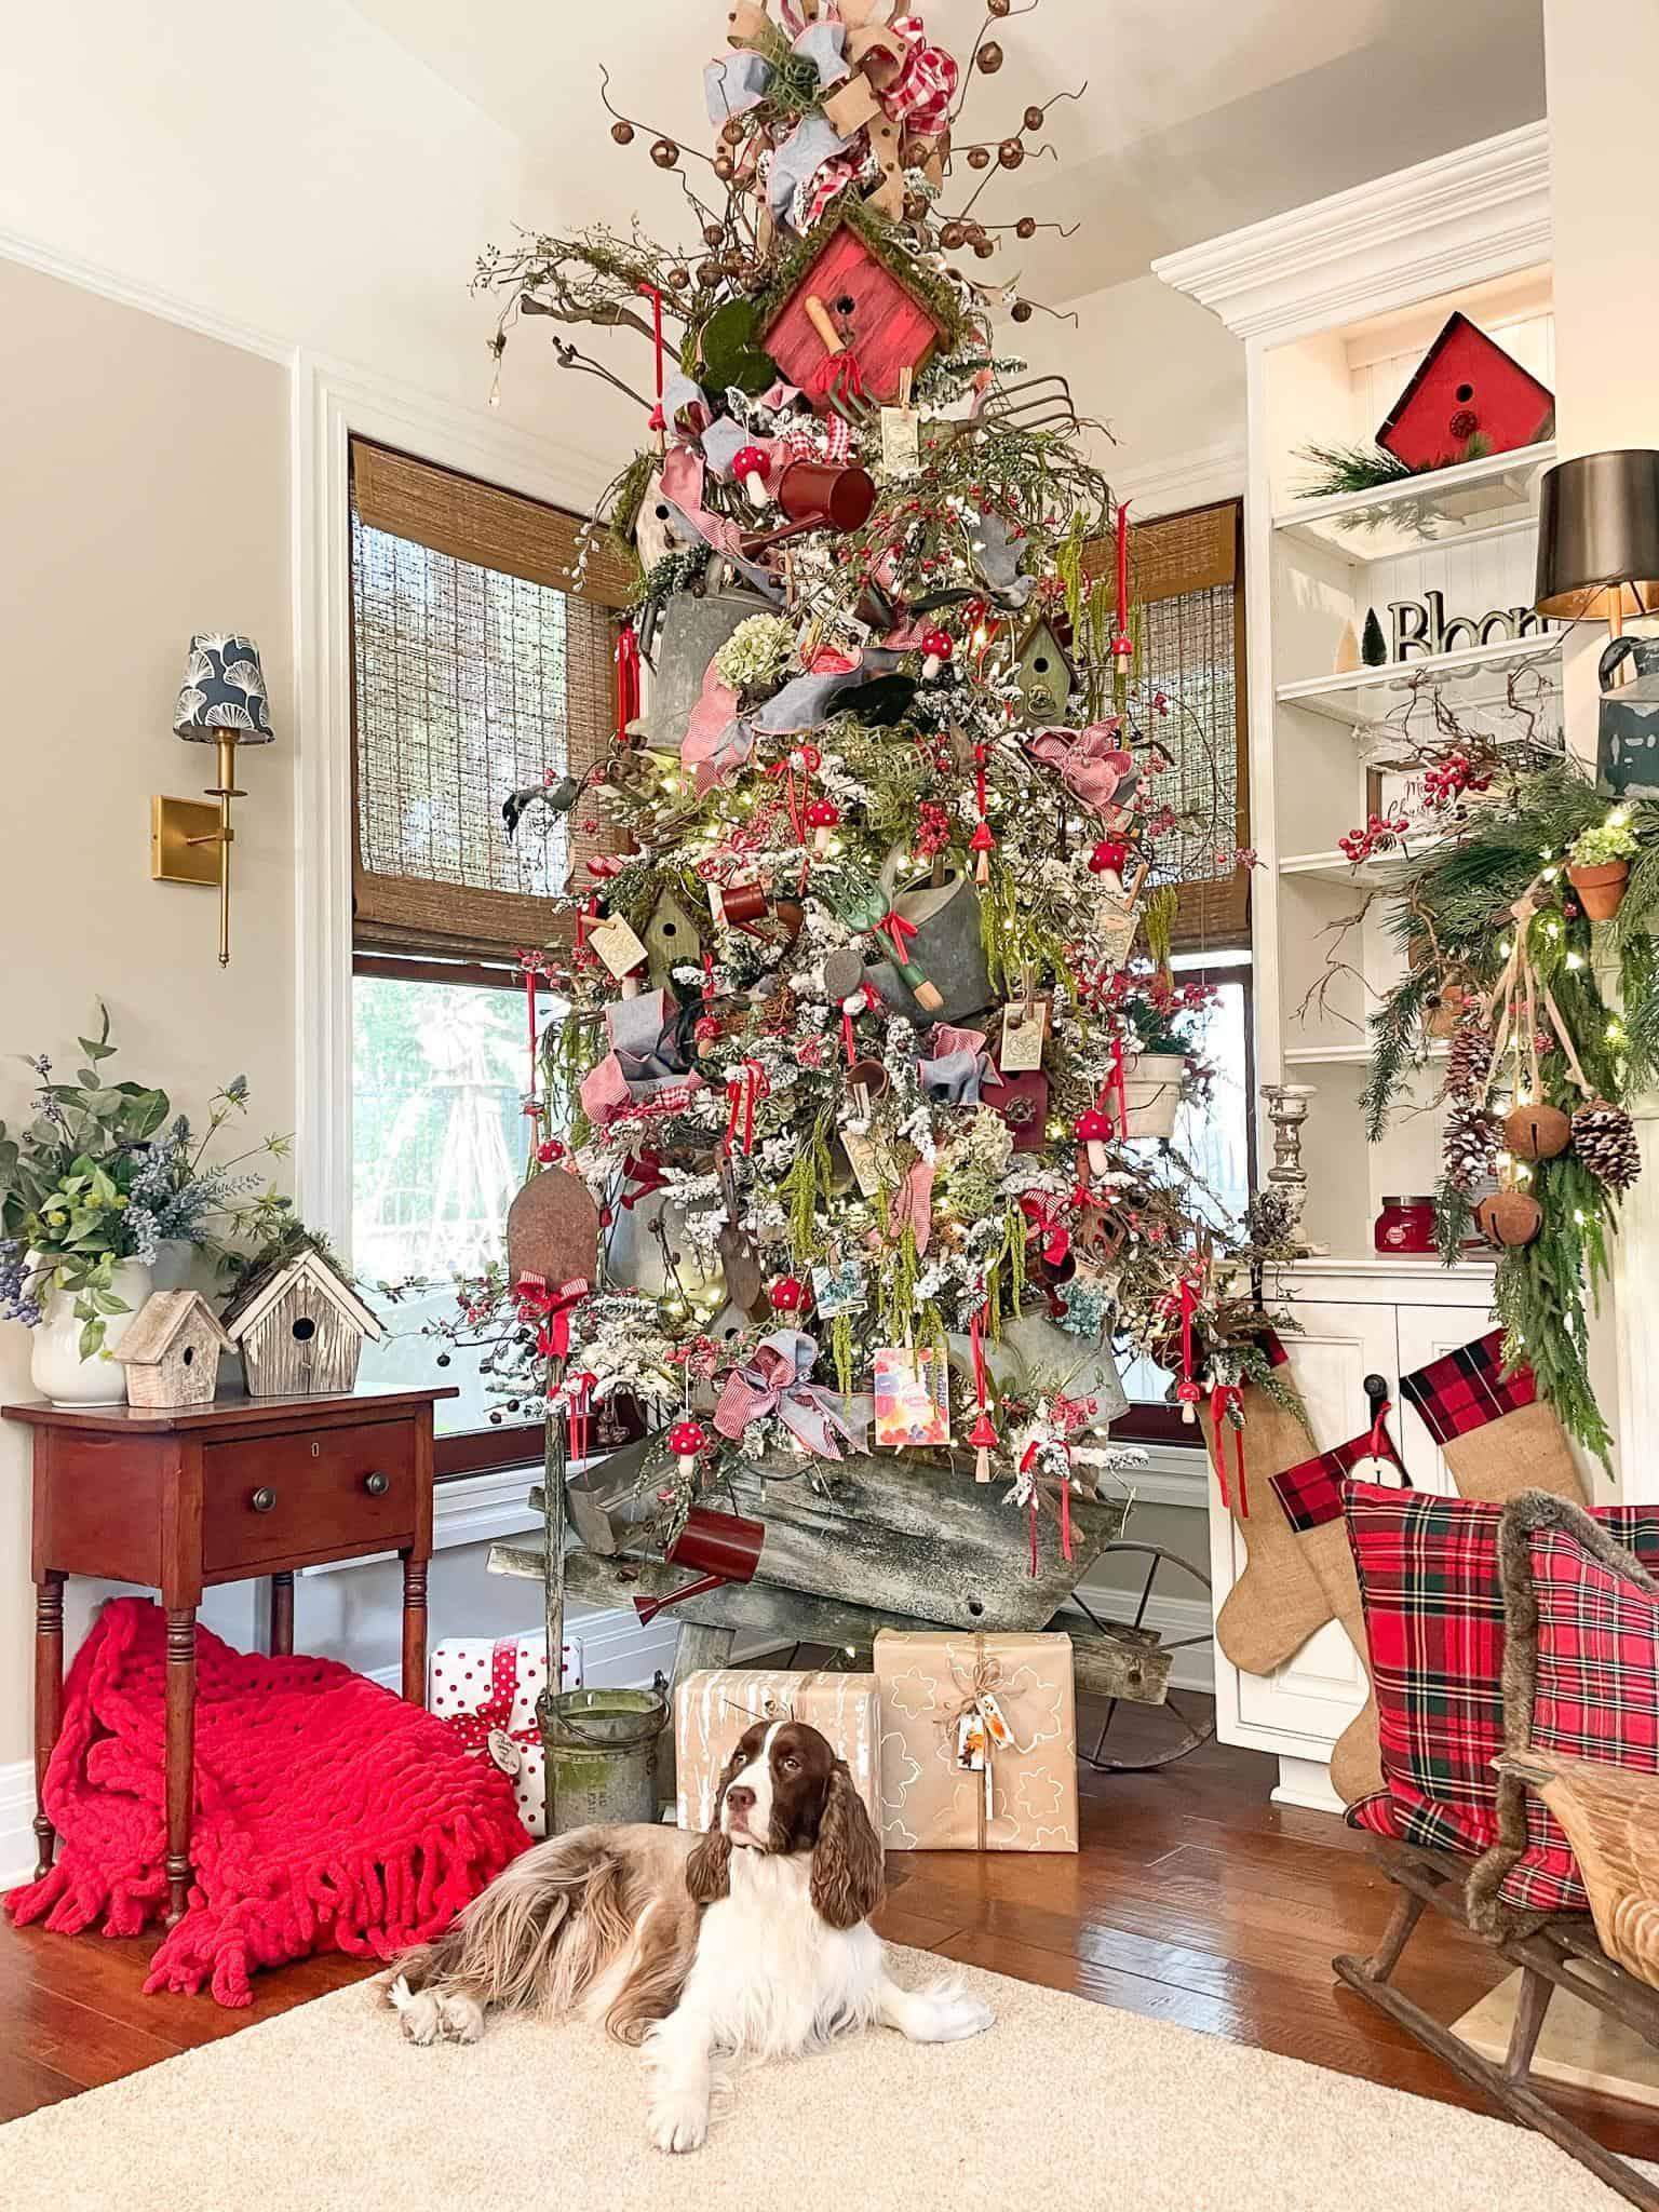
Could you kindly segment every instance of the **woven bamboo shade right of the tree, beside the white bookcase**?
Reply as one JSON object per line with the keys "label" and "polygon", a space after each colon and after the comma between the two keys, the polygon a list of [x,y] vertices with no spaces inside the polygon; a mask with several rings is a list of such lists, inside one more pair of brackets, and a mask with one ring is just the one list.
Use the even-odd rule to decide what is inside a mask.
{"label": "woven bamboo shade right of the tree, beside the white bookcase", "polygon": [[[1161,869],[1181,891],[1172,938],[1183,951],[1248,945],[1250,872],[1232,865],[1232,849],[1250,843],[1241,507],[1159,515],[1130,529],[1128,549],[1137,675],[1170,701],[1150,730],[1172,757],[1155,790],[1194,816],[1190,832],[1161,841],[1179,852]],[[1106,540],[1084,553],[1084,573],[1108,580],[1110,602],[1113,560]]]}

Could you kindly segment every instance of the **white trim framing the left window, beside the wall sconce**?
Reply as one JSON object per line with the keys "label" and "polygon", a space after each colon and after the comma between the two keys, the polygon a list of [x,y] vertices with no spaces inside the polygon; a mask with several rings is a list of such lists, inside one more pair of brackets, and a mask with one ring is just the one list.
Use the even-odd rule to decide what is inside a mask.
{"label": "white trim framing the left window, beside the wall sconce", "polygon": [[299,354],[294,513],[294,1201],[352,1250],[352,544],[349,438],[588,513],[611,460],[480,407]]}

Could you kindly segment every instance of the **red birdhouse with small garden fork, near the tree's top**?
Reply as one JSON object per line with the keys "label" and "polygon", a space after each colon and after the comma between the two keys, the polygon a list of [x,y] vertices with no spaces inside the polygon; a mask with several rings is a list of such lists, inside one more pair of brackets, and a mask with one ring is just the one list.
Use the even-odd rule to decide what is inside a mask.
{"label": "red birdhouse with small garden fork, near the tree's top", "polygon": [[905,369],[920,369],[947,336],[933,307],[896,276],[843,215],[805,274],[761,325],[765,352],[814,398],[841,392],[896,400]]}

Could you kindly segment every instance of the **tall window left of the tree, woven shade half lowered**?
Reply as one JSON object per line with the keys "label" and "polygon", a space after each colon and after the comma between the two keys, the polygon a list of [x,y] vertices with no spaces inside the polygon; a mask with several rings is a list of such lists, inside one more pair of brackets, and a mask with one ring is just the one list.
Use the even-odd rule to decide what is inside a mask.
{"label": "tall window left of the tree, woven shade half lowered", "polygon": [[[392,1310],[374,1380],[427,1380],[420,1323],[504,1252],[524,1179],[529,1015],[515,951],[544,945],[580,821],[513,843],[509,792],[582,774],[611,737],[622,564],[560,509],[352,442],[352,1263],[422,1281]],[[542,1002],[542,1015],[546,1002]],[[438,1407],[438,1469],[533,1455],[478,1358]]]}

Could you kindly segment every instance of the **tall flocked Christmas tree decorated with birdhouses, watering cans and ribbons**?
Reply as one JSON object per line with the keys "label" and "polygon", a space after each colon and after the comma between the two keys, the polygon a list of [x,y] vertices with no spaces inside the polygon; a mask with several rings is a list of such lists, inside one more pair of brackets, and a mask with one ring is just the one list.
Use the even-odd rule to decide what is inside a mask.
{"label": "tall flocked Christmas tree decorated with birdhouses, watering cans and ribbons", "polygon": [[1000,1484],[1035,1573],[1110,1473],[1121,1356],[1217,1422],[1267,1376],[1261,1254],[1168,1141],[1208,1079],[1179,847],[1245,856],[1144,679],[1091,425],[1002,338],[1033,303],[975,274],[1037,230],[975,215],[1044,131],[1033,104],[967,137],[1006,15],[958,64],[872,0],[739,0],[712,153],[650,144],[695,248],[586,230],[480,265],[498,367],[546,316],[624,334],[633,383],[555,345],[646,389],[586,555],[635,573],[615,745],[507,801],[586,854],[524,964],[560,1002],[533,1168],[593,1192],[602,1256],[557,1314],[511,1267],[465,1285],[458,1329],[577,1458],[644,1409],[664,1540],[737,1469],[898,1451]]}

